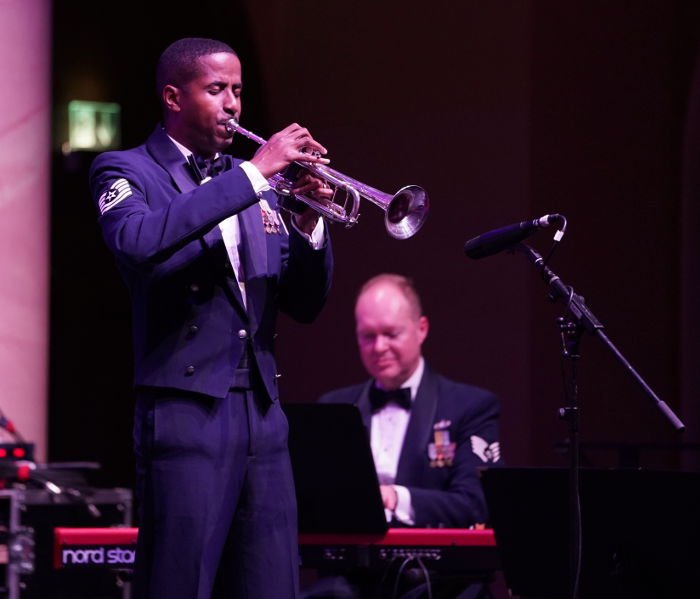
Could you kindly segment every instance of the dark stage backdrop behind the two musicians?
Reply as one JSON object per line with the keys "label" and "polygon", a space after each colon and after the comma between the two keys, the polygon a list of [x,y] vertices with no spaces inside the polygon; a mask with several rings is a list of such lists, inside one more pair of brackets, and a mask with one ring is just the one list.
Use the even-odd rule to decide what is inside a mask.
{"label": "dark stage backdrop behind the two musicians", "polygon": [[[690,416],[679,437],[612,354],[585,336],[583,440],[698,440],[688,384],[696,376],[688,356],[697,355],[688,298],[698,273],[688,252],[700,228],[685,218],[697,212],[694,179],[682,184],[697,170],[684,157],[700,23],[691,4],[200,1],[172,12],[156,2],[154,18],[132,1],[110,5],[109,15],[106,5],[61,2],[54,103],[121,103],[124,145],[136,145],[158,119],[153,70],[162,48],[186,35],[229,41],[242,57],[248,128],[269,136],[300,122],[330,149],[335,168],[392,193],[421,185],[432,203],[427,224],[407,241],[390,238],[369,203],[355,228],[330,227],[336,277],[327,308],[310,326],[280,320],[283,400],[313,401],[364,378],[354,295],[368,277],[399,272],[422,291],[429,362],[501,396],[506,460],[565,464],[556,450],[566,437],[557,417],[555,319],[563,308],[548,301],[524,257],[470,261],[463,244],[511,222],[565,214],[552,269],[586,298],[651,387]],[[90,25],[74,27],[86,10]],[[237,144],[241,155],[253,149]],[[55,156],[50,457],[97,460],[107,483],[131,484],[128,300],[88,196],[94,156]],[[531,241],[547,252],[550,230]],[[681,464],[677,450],[642,458]],[[589,449],[585,459],[607,466],[616,456]]]}

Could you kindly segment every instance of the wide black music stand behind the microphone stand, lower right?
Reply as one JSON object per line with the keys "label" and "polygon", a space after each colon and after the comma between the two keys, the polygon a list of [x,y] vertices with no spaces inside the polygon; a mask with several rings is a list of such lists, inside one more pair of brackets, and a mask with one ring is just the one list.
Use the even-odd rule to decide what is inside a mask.
{"label": "wide black music stand behind the microphone stand, lower right", "polygon": [[[582,599],[700,596],[700,473],[581,470]],[[514,596],[570,592],[568,470],[481,474]]]}

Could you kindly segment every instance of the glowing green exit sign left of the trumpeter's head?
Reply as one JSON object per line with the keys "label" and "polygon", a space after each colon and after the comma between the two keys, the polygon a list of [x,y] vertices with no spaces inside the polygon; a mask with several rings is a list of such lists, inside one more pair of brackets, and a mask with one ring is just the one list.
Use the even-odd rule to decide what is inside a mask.
{"label": "glowing green exit sign left of the trumpeter's head", "polygon": [[114,102],[68,102],[71,150],[114,150],[121,145],[121,108]]}

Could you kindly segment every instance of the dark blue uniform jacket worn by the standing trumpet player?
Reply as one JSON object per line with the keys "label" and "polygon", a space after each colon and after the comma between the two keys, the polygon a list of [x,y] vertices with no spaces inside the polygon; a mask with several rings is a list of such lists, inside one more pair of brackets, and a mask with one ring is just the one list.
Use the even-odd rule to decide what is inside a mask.
{"label": "dark blue uniform jacket worn by the standing trumpet player", "polygon": [[[240,161],[224,158],[228,170],[200,186],[157,128],[145,144],[94,160],[92,195],[131,291],[135,385],[223,398],[250,343],[274,401],[277,310],[301,322],[316,317],[330,287],[330,241],[313,250],[294,230],[266,232]],[[263,196],[276,209],[276,194]],[[241,226],[247,309],[218,228],[233,214]]]}

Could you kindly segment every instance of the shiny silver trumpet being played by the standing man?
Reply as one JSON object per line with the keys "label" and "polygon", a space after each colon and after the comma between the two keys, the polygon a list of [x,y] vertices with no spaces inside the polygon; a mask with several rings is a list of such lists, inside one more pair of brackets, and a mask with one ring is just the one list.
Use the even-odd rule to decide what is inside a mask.
{"label": "shiny silver trumpet being played by the standing man", "polygon": [[[240,133],[261,146],[267,143],[267,140],[259,135],[241,127],[236,119],[229,119],[226,122],[226,130],[229,133]],[[268,179],[270,187],[277,191],[282,198],[293,197],[329,220],[343,223],[346,228],[357,224],[362,198],[369,200],[384,211],[384,226],[389,235],[395,239],[408,239],[415,235],[428,217],[428,194],[418,185],[406,185],[391,195],[325,165],[303,161],[295,161],[294,164],[330,183],[335,188],[333,198],[317,200],[309,195],[292,194],[291,190],[295,182],[284,173],[277,173],[270,177]],[[287,169],[287,171],[289,170]],[[340,197],[336,200],[336,195],[339,195],[339,192]],[[284,201],[280,202],[280,207],[293,211],[293,208],[285,205]]]}

